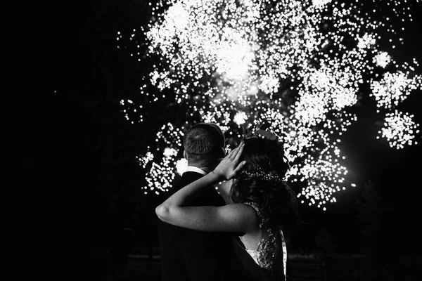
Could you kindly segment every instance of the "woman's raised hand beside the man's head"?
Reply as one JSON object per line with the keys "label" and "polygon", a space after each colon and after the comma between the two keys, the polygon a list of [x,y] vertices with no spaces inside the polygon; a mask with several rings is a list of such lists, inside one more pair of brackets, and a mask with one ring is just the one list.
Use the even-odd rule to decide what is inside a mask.
{"label": "woman's raised hand beside the man's head", "polygon": [[222,162],[218,164],[212,173],[217,174],[219,178],[223,178],[225,180],[234,178],[234,176],[236,176],[241,171],[243,165],[246,164],[245,161],[239,163],[244,146],[245,143],[242,142],[237,148],[231,150],[231,152],[229,152],[229,154],[226,155],[224,159],[222,159]]}

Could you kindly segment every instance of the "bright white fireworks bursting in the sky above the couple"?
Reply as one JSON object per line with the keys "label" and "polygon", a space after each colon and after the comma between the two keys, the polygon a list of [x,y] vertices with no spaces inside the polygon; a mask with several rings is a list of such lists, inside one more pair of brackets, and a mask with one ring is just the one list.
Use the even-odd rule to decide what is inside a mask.
{"label": "bright white fireworks bursting in the sky above the couple", "polygon": [[[324,204],[335,202],[335,192],[354,186],[346,179],[338,144],[357,119],[348,110],[357,104],[359,87],[369,84],[377,106],[386,110],[421,89],[421,76],[412,76],[418,62],[399,65],[379,46],[380,30],[395,36],[390,18],[373,20],[379,11],[364,12],[363,2],[150,3],[153,18],[138,33],[145,37],[146,57],[159,63],[144,77],[141,95],[159,103],[171,90],[175,103],[187,108],[184,120],[190,121],[181,129],[166,124],[158,132],[155,146],[161,150],[155,153],[162,157],[154,158],[149,147],[139,157],[149,169],[146,192],[167,191],[176,171],[186,165],[180,159],[181,137],[193,122],[219,124],[233,145],[241,138],[240,125],[269,122],[294,164],[286,181],[305,183],[298,195],[302,203],[325,209]],[[386,2],[397,18],[412,20],[406,1]],[[136,34],[129,40],[135,41]],[[119,32],[117,40],[122,39]],[[143,122],[147,106],[129,100],[122,100],[122,106],[127,119]],[[386,116],[382,137],[396,148],[411,145],[417,124],[406,114]]]}

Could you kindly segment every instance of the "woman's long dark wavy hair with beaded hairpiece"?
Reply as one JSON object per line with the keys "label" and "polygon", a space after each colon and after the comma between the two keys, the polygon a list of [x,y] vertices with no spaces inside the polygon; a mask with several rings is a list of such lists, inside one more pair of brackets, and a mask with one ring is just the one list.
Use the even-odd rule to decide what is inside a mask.
{"label": "woman's long dark wavy hair with beaded hairpiece", "polygon": [[294,226],[300,221],[295,192],[282,181],[288,164],[283,145],[267,138],[246,138],[241,161],[243,170],[230,190],[234,203],[257,204],[271,223]]}

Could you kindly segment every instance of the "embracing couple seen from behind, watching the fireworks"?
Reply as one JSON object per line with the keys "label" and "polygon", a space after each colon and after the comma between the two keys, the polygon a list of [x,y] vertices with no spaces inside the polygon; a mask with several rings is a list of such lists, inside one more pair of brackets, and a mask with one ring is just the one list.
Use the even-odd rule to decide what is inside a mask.
{"label": "embracing couple seen from behind, watching the fireworks", "polygon": [[286,280],[298,210],[278,137],[262,126],[226,154],[221,129],[200,123],[183,145],[188,169],[155,209],[162,280]]}

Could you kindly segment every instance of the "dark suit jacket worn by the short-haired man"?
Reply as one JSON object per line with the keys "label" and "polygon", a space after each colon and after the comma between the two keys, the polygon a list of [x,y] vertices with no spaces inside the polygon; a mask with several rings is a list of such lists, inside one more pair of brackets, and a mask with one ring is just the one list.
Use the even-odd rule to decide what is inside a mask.
{"label": "dark suit jacket worn by the short-haired man", "polygon": [[[203,175],[187,171],[169,195],[196,181]],[[193,206],[222,206],[223,198],[214,188],[207,188]],[[158,220],[162,261],[162,281],[234,281],[248,280],[242,276],[241,263],[236,260],[232,245],[233,233],[189,230]]]}

